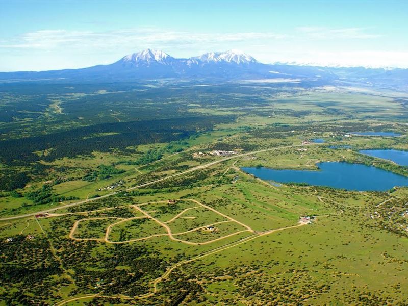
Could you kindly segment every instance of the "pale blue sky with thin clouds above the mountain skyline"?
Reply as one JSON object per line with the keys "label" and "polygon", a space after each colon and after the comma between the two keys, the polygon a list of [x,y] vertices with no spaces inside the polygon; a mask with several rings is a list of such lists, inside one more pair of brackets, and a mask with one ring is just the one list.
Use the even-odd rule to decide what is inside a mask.
{"label": "pale blue sky with thin clouds above the mountain skyline", "polygon": [[148,47],[408,68],[408,1],[0,0],[0,71],[108,64]]}

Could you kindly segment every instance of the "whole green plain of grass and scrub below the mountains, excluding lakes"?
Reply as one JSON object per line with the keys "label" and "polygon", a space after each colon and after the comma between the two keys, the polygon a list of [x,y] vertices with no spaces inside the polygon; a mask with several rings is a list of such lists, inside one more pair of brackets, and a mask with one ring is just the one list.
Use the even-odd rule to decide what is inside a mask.
{"label": "whole green plain of grass and scrub below the mountains, excluding lakes", "polygon": [[[13,161],[10,146],[1,154],[2,182],[21,184],[0,197],[0,305],[406,304],[408,188],[274,186],[240,170],[345,161],[408,176],[358,152],[408,149],[397,96],[139,87],[3,94],[0,110],[13,105],[19,121],[4,119],[1,137],[27,137],[17,143],[27,160]],[[147,129],[151,138],[137,134]],[[402,136],[345,136],[358,131]],[[81,145],[68,145],[71,134]],[[308,142],[317,138],[325,142]]]}

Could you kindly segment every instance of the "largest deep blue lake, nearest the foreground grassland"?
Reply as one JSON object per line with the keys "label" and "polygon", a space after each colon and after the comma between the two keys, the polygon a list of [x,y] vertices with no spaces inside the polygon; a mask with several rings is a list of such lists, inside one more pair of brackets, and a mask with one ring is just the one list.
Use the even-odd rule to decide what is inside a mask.
{"label": "largest deep blue lake, nearest the foreground grassland", "polygon": [[386,191],[394,186],[408,186],[408,177],[363,164],[325,162],[320,171],[276,170],[265,167],[243,167],[242,170],[279,183],[307,183],[358,191]]}

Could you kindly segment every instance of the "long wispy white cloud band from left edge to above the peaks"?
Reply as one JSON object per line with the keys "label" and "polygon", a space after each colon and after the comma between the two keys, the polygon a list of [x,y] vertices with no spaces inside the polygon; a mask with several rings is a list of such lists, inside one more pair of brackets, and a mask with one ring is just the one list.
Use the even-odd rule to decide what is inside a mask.
{"label": "long wispy white cloud band from left edge to above the peaks", "polygon": [[0,41],[0,49],[69,48],[129,48],[135,46],[212,46],[220,42],[279,39],[284,35],[269,32],[190,33],[171,29],[126,29],[110,32],[44,30],[25,33],[7,41]]}

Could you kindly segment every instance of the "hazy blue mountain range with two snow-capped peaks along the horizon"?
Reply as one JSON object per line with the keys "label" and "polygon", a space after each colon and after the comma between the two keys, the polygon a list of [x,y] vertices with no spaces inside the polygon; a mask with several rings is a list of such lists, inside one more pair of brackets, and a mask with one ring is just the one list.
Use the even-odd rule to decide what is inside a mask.
{"label": "hazy blue mountain range with two snow-capped peaks along the horizon", "polygon": [[300,79],[319,84],[354,82],[366,86],[408,89],[408,69],[263,64],[236,50],[209,52],[183,59],[174,58],[161,50],[145,49],[109,65],[39,72],[0,72],[2,83],[41,80],[113,82],[164,78],[196,81]]}

